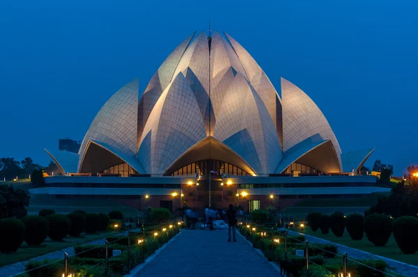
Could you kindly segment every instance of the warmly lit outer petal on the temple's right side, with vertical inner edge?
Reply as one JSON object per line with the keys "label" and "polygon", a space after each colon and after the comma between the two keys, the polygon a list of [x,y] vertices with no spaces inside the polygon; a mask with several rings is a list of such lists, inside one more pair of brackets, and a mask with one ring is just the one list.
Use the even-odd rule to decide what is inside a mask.
{"label": "warmly lit outer petal on the temple's right side, with vertical inner edge", "polygon": [[329,139],[334,145],[341,171],[341,148],[331,126],[314,101],[300,88],[281,78],[283,104],[283,150],[286,152],[297,143],[314,134]]}

